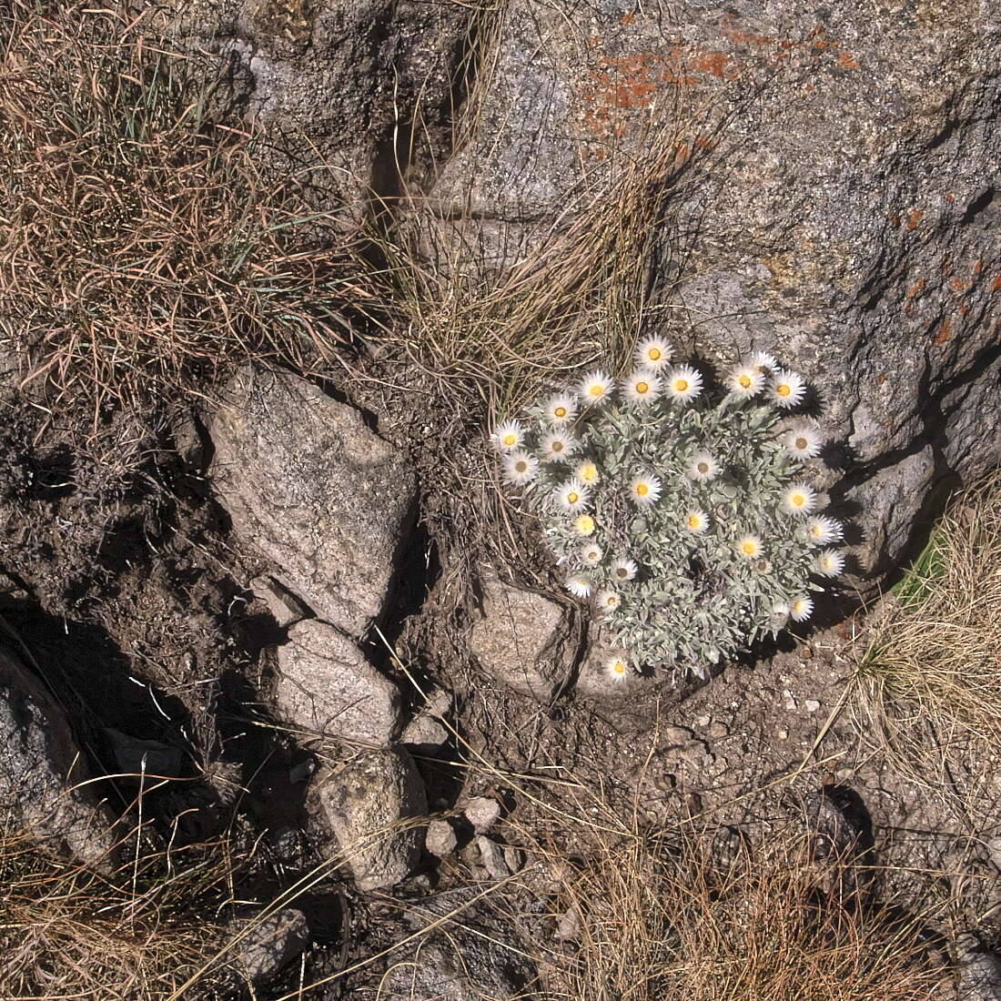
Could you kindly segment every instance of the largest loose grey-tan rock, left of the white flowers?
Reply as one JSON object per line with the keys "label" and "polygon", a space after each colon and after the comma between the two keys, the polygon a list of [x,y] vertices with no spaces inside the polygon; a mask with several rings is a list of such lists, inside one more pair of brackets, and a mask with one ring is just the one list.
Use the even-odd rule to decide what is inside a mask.
{"label": "largest loose grey-tan rock, left of the white flowers", "polygon": [[287,372],[244,368],[224,400],[209,472],[233,528],[320,619],[359,635],[382,611],[413,520],[405,456]]}

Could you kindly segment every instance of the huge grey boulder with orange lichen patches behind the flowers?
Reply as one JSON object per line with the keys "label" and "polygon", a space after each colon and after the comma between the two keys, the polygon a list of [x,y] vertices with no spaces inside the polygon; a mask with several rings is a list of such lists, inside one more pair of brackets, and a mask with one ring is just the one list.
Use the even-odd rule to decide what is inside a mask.
{"label": "huge grey boulder with orange lichen patches behind the flowers", "polygon": [[973,0],[505,11],[476,137],[432,192],[456,245],[524,260],[639,163],[644,197],[668,192],[665,332],[810,381],[821,485],[860,570],[885,570],[938,487],[1001,457],[997,19]]}

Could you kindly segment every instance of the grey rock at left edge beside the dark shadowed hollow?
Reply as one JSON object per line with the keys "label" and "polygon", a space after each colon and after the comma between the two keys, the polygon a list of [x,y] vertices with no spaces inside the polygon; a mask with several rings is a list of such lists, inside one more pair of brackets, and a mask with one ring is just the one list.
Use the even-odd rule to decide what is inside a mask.
{"label": "grey rock at left edge beside the dark shadowed hollow", "polygon": [[0,818],[54,852],[107,868],[115,842],[62,709],[13,655],[0,650]]}

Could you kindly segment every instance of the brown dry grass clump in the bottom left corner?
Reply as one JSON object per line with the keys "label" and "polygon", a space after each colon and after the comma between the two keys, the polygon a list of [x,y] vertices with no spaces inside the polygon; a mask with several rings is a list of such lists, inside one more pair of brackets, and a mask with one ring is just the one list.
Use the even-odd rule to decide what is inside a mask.
{"label": "brown dry grass clump in the bottom left corner", "polygon": [[[107,877],[0,829],[0,997],[162,1001],[225,941],[198,915],[225,893],[223,859],[152,855]],[[222,986],[204,975],[185,996]]]}

